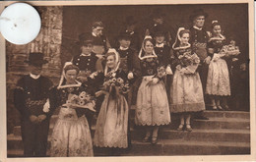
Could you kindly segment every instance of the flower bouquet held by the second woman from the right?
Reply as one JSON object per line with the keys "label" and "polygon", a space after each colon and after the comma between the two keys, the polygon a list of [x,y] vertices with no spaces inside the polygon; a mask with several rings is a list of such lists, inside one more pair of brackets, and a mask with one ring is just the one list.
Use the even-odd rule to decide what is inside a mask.
{"label": "flower bouquet held by the second woman from the right", "polygon": [[199,64],[200,59],[196,54],[191,55],[191,52],[185,52],[183,55],[179,55],[178,59],[180,61],[181,67],[187,67],[193,64]]}

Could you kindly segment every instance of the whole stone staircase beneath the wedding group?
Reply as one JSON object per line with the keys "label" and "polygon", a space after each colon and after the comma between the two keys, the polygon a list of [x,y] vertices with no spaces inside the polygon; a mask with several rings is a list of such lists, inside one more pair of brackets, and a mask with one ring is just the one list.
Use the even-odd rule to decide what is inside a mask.
{"label": "whole stone staircase beneath the wedding group", "polygon": [[[131,117],[134,117],[134,108]],[[178,117],[172,116],[172,123],[163,126],[159,132],[159,142],[152,145],[142,142],[145,131],[137,127],[131,119],[132,146],[120,152],[122,156],[151,156],[151,155],[232,155],[250,154],[250,115],[248,112],[238,111],[205,111],[210,119],[193,120],[192,132],[175,131],[178,127]],[[48,136],[57,119],[53,115]],[[95,127],[92,128],[92,136]],[[23,142],[21,127],[14,128],[14,134],[7,136],[8,157],[23,156]],[[49,149],[48,149],[49,150]],[[107,156],[105,148],[94,148],[95,156]],[[47,153],[48,154],[48,153]]]}

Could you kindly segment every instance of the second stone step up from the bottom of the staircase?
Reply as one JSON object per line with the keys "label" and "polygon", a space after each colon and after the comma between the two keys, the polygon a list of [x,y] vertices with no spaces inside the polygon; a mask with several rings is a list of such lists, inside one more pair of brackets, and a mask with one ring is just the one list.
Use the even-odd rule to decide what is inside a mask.
{"label": "second stone step up from the bottom of the staircase", "polygon": [[[95,135],[95,128],[92,128],[92,136]],[[137,127],[131,129],[131,138],[133,140],[141,140],[145,135],[144,128]],[[50,134],[48,140],[50,141]],[[192,132],[174,131],[167,128],[160,128],[160,139],[183,139],[186,141],[237,141],[237,142],[250,142],[249,130],[197,130]],[[50,142],[48,143],[50,145]],[[8,135],[7,136],[8,149],[23,148],[21,135]]]}

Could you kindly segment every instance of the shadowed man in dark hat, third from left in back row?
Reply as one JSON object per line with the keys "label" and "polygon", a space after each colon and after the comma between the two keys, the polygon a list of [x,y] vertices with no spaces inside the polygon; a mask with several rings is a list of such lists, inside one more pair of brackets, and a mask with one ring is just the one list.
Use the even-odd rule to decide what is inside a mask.
{"label": "shadowed man in dark hat, third from left in back row", "polygon": [[171,46],[173,43],[173,33],[174,30],[172,27],[168,27],[164,22],[165,14],[161,13],[161,9],[158,8],[153,11],[152,14],[153,22],[152,24],[146,29],[145,35],[151,35],[154,37],[154,32],[158,30],[158,27],[161,27],[164,32],[164,44]]}

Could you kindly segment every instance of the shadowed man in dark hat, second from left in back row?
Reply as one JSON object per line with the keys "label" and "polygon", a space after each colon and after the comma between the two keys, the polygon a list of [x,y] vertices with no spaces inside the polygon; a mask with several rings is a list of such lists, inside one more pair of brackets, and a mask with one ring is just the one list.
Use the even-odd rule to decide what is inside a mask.
{"label": "shadowed man in dark hat, second from left in back row", "polygon": [[134,19],[134,17],[128,16],[125,19],[124,28],[122,28],[119,33],[120,34],[123,32],[128,33],[131,37],[130,48],[132,48],[136,51],[139,51],[142,46],[142,44],[141,44],[142,38],[139,35],[139,32],[137,31],[136,26],[137,26],[137,21]]}

